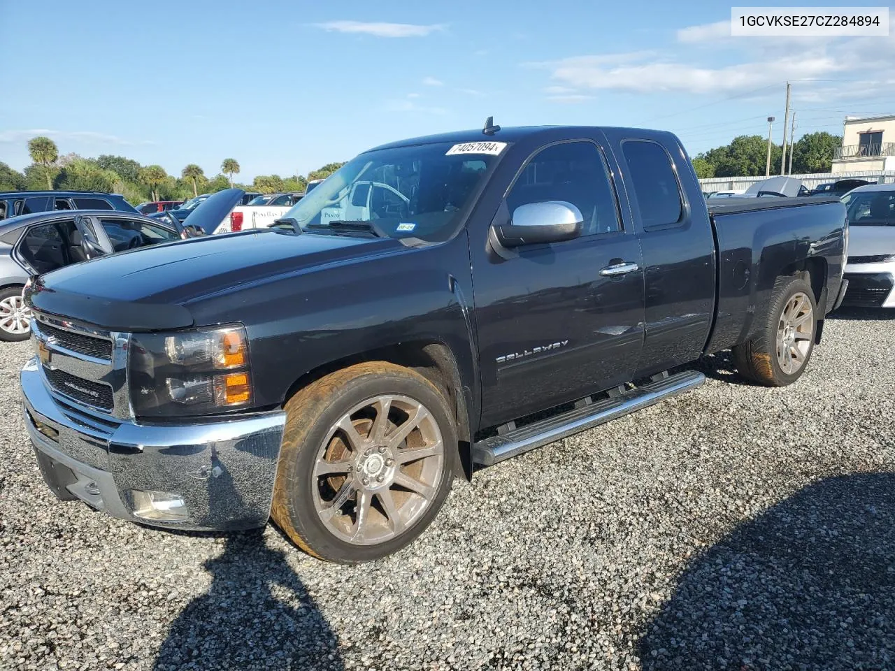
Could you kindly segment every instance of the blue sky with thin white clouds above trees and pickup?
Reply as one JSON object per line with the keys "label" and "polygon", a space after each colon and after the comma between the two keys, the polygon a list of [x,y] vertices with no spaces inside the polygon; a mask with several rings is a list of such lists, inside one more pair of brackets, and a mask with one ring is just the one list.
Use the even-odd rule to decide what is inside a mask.
{"label": "blue sky with thin white clouds above trees and pickup", "polygon": [[[812,4],[817,4],[816,0]],[[731,38],[729,5],[0,0],[0,161],[26,142],[179,174],[306,173],[388,140],[497,123],[634,125],[695,154],[737,134],[895,113],[889,38]]]}

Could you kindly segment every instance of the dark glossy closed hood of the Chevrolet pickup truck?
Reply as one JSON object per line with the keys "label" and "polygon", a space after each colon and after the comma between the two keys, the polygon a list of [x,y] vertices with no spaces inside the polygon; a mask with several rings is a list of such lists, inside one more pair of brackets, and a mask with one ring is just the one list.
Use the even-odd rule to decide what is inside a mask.
{"label": "dark glossy closed hood of the Chevrolet pickup truck", "polygon": [[361,256],[405,249],[390,238],[275,230],[144,247],[40,276],[27,295],[38,310],[117,331],[192,326],[188,303],[237,285]]}

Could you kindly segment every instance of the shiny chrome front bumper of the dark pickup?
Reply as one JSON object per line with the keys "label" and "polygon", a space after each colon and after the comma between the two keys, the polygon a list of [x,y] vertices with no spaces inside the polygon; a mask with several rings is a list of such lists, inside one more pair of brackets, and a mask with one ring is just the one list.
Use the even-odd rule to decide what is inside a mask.
{"label": "shiny chrome front bumper of the dark pickup", "polygon": [[[37,358],[21,369],[21,397],[40,470],[57,497],[170,529],[223,531],[267,523],[285,412],[137,424],[51,393]],[[148,509],[149,493],[182,503],[170,512],[165,505]]]}

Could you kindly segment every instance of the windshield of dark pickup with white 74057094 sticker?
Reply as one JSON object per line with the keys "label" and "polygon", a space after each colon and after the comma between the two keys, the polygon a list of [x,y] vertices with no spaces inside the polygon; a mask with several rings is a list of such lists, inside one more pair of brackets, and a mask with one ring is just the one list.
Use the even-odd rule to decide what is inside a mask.
{"label": "windshield of dark pickup with white 74057094 sticker", "polygon": [[[498,152],[504,147],[485,144],[499,145]],[[336,231],[333,222],[370,222],[391,238],[447,240],[497,160],[493,154],[456,153],[465,149],[457,147],[439,142],[361,154],[284,218],[294,218],[306,233],[326,233],[328,225]]]}

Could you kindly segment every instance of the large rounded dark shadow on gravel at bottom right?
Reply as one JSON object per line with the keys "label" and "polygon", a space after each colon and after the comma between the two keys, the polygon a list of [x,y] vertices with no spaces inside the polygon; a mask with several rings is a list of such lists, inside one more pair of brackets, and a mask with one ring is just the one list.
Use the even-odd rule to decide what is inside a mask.
{"label": "large rounded dark shadow on gravel at bottom right", "polygon": [[687,568],[644,669],[895,667],[895,473],[822,480]]}

